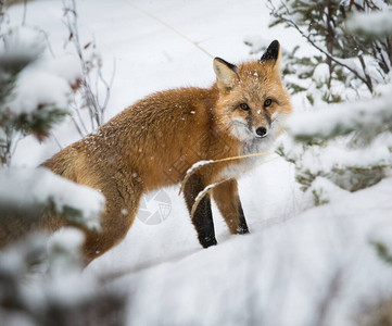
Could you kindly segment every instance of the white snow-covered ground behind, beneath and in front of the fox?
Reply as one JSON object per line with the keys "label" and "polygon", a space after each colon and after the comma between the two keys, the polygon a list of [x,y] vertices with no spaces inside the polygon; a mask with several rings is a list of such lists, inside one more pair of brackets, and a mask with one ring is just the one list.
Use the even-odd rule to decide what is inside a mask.
{"label": "white snow-covered ground behind, beneath and in front of the fox", "polygon": [[[81,42],[97,41],[108,78],[115,62],[106,120],[156,90],[208,87],[212,58],[194,43],[235,63],[256,58],[243,42],[250,36],[278,39],[287,50],[304,42],[290,29],[268,29],[260,0],[79,0],[77,7]],[[18,24],[23,7],[9,14]],[[31,1],[26,13],[26,24],[46,30],[59,57],[73,53],[71,45],[64,50],[62,15],[62,1],[53,0]],[[301,100],[293,106],[302,110]],[[53,134],[63,147],[79,138],[69,122]],[[26,138],[13,164],[36,166],[58,150],[52,138]],[[277,159],[240,180],[251,235],[230,236],[214,206],[219,243],[207,250],[178,190],[143,199],[143,212],[160,211],[164,221],[139,215],[126,239],[85,271],[129,289],[128,325],[350,325],[362,304],[392,294],[392,269],[369,244],[392,217],[391,179],[304,211],[293,166]]]}

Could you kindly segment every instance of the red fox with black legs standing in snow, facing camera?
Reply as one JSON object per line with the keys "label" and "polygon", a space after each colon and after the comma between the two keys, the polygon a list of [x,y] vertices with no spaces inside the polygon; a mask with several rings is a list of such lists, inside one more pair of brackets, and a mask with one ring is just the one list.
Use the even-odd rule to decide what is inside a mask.
{"label": "red fox with black legs standing in snow, facing camera", "polygon": [[[279,53],[275,40],[260,61],[233,65],[215,58],[216,83],[211,88],[153,93],[42,164],[99,189],[106,198],[102,230],[83,229],[86,264],[125,237],[142,195],[180,183],[198,161],[265,152],[271,147],[291,112],[280,79]],[[251,159],[228,161],[194,173],[184,189],[188,209],[206,186],[228,178],[213,189],[212,198],[231,234],[249,233],[235,177],[251,164]],[[67,225],[60,220],[47,218],[46,227]],[[202,247],[217,243],[210,195],[200,201],[192,223]]]}

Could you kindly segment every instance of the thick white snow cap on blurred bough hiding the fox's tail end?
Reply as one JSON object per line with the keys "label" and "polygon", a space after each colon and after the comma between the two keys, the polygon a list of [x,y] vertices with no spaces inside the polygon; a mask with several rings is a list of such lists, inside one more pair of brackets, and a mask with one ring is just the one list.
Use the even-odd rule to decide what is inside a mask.
{"label": "thick white snow cap on blurred bough hiding the fox's tail end", "polygon": [[0,206],[53,205],[58,213],[99,229],[105,200],[89,187],[64,179],[46,168],[1,168]]}

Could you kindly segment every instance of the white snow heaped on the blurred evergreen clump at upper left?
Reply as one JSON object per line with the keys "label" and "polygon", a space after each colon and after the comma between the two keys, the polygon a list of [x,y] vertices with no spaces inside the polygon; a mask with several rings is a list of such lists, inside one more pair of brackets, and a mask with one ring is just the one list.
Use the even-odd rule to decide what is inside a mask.
{"label": "white snow heaped on the blurred evergreen clump at upper left", "polygon": [[67,111],[71,86],[81,75],[80,64],[75,55],[48,60],[41,55],[46,48],[43,34],[31,27],[11,28],[4,37],[0,62],[29,63],[10,95],[8,109],[14,115],[36,113],[37,108],[40,114],[53,108]]}

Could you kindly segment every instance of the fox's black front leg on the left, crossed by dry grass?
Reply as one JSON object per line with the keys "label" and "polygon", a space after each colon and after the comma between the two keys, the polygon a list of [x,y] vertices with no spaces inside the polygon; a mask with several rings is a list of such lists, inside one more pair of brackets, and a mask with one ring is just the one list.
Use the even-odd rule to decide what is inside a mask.
{"label": "fox's black front leg on the left, crossed by dry grass", "polygon": [[[188,211],[192,211],[192,206],[198,195],[203,191],[204,184],[198,174],[191,176],[185,186],[184,195],[188,206]],[[203,248],[216,244],[213,214],[211,211],[210,195],[199,202],[197,210],[192,216],[192,223],[198,231],[199,242]]]}

